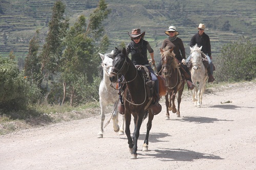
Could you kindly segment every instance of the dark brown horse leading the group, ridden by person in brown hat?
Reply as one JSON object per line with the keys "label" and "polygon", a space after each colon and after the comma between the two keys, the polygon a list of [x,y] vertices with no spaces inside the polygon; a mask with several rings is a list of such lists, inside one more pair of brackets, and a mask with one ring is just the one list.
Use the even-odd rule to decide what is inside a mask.
{"label": "dark brown horse leading the group, ridden by person in brown hat", "polygon": [[[143,120],[148,115],[146,138],[144,140],[142,151],[147,151],[148,136],[152,127],[154,114],[151,109],[145,111],[149,100],[146,95],[145,81],[141,71],[137,70],[131,59],[126,55],[126,50],[116,48],[114,52],[113,67],[110,74],[110,81],[115,83],[122,76],[122,84],[126,85],[123,91],[125,133],[128,139],[131,159],[137,159],[137,141],[139,138],[140,127]],[[130,124],[132,115],[134,117],[134,133],[131,137]]]}

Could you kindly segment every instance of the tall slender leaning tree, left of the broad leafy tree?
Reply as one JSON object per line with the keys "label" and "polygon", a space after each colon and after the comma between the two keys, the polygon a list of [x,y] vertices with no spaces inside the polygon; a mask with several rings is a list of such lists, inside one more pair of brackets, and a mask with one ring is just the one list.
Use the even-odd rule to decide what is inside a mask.
{"label": "tall slender leaning tree, left of the broad leafy tree", "polygon": [[54,74],[59,69],[58,62],[62,54],[62,40],[66,36],[69,27],[68,19],[63,17],[65,8],[65,5],[60,0],[56,1],[53,6],[46,43],[39,55],[40,74],[38,87],[40,88],[43,79]]}

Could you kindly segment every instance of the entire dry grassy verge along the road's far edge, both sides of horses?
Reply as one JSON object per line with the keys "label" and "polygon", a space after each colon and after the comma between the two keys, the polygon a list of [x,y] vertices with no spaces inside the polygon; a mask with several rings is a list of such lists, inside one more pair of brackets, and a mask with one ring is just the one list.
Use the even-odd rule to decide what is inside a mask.
{"label": "entire dry grassy verge along the road's far edge, both sides of horses", "polygon": [[[207,83],[205,94],[221,92],[233,87],[242,87],[255,83],[256,79],[250,82]],[[191,91],[188,91],[187,86],[185,85],[182,98],[191,98],[191,94]],[[162,98],[161,100],[163,101],[164,99]],[[107,112],[111,113],[112,108],[112,106],[109,106]],[[88,103],[75,108],[69,105],[34,105],[24,111],[5,112],[0,109],[0,135],[99,115],[99,102]]]}

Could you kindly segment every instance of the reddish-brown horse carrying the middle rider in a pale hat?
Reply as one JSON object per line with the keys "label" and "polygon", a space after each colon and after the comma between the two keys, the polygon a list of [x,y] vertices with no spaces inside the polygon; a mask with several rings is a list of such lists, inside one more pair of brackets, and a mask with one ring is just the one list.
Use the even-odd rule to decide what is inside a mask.
{"label": "reddish-brown horse carrying the middle rider in a pale hat", "polygon": [[[166,105],[166,116],[165,119],[169,119],[169,110],[176,113],[177,117],[180,117],[180,102],[181,95],[184,89],[184,80],[182,79],[181,72],[179,69],[179,61],[175,58],[173,48],[169,47],[160,48],[161,51],[161,63],[162,72],[161,75],[166,80],[166,85],[168,88],[168,93],[165,95],[165,105]],[[175,97],[178,92],[178,110],[175,106]],[[170,96],[170,98],[168,98]]]}

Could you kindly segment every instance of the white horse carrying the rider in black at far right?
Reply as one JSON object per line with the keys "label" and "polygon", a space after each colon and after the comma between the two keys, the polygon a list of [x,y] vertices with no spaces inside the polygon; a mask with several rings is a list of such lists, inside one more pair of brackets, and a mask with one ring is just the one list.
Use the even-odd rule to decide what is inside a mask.
{"label": "white horse carrying the rider in black at far right", "polygon": [[190,47],[190,61],[192,63],[192,68],[190,70],[191,79],[192,82],[196,85],[196,87],[193,89],[193,102],[194,105],[198,108],[200,108],[202,105],[206,79],[208,78],[207,70],[202,61],[201,50],[202,46],[198,47],[197,44],[193,47]]}

